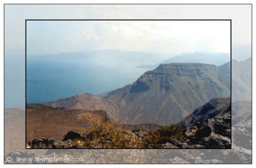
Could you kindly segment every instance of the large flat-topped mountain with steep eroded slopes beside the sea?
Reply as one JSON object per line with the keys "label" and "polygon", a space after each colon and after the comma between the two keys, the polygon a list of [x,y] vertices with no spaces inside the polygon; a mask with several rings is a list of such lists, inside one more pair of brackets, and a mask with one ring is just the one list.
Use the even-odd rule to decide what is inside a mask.
{"label": "large flat-topped mountain with steep eroded slopes beside the sea", "polygon": [[104,98],[115,102],[129,123],[177,123],[212,98],[230,96],[225,73],[230,72],[220,73],[215,65],[162,64]]}

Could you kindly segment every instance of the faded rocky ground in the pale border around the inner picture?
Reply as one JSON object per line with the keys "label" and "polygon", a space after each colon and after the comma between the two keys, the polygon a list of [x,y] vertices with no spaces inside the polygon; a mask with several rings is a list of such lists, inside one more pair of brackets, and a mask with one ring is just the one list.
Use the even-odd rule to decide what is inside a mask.
{"label": "faded rocky ground in the pale border around the inner picture", "polygon": [[[17,123],[23,123],[23,120],[25,120],[25,110],[5,109],[5,125],[6,128],[8,128],[5,130],[6,142],[8,142],[5,144],[5,157],[84,157],[83,163],[251,163],[250,116],[250,101],[232,102],[231,149],[37,149],[35,151],[24,150],[23,144],[25,144],[25,139],[22,137],[25,133],[23,132],[25,127],[17,125]],[[236,122],[233,122],[233,119],[235,119]],[[13,124],[13,122],[16,124]],[[65,137],[65,135],[63,137]],[[9,145],[9,143],[11,143],[11,145]],[[15,160],[12,161],[12,163],[15,162]]]}

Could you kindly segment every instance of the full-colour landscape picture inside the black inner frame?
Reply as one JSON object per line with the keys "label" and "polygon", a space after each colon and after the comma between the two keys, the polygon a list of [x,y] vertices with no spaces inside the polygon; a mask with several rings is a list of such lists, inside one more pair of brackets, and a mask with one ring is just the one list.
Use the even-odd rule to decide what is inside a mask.
{"label": "full-colour landscape picture inside the black inner frame", "polygon": [[[230,31],[230,20],[27,20],[26,148],[230,149]],[[250,61],[232,60],[237,86]]]}

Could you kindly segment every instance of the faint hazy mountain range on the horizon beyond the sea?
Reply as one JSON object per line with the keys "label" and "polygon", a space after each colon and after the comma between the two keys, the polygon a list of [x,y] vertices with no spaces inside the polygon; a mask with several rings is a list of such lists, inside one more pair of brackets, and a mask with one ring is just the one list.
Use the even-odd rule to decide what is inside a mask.
{"label": "faint hazy mountain range on the horizon beyond the sea", "polygon": [[172,57],[170,54],[161,54],[145,51],[126,51],[126,50],[87,50],[77,52],[63,52],[48,55],[28,55],[28,62],[33,61],[51,61],[61,63],[84,62],[97,64],[99,66],[140,66],[143,64],[156,64]]}

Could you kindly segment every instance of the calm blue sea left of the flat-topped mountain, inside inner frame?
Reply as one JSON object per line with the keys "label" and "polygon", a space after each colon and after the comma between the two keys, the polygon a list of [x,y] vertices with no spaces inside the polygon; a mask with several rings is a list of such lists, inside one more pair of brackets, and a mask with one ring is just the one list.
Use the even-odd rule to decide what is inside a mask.
{"label": "calm blue sea left of the flat-topped mountain, inside inner frame", "polygon": [[27,103],[99,94],[136,81],[146,70],[134,65],[105,66],[90,61],[33,60],[27,62]]}

